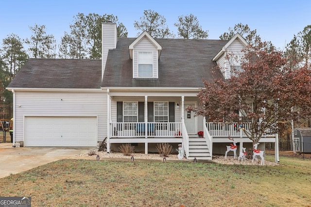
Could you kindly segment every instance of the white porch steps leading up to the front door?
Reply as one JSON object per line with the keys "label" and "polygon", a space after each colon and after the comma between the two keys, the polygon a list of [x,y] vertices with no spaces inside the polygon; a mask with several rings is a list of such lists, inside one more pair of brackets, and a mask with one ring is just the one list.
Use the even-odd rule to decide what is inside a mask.
{"label": "white porch steps leading up to the front door", "polygon": [[188,159],[212,159],[207,147],[207,143],[203,138],[189,138],[189,157]]}

